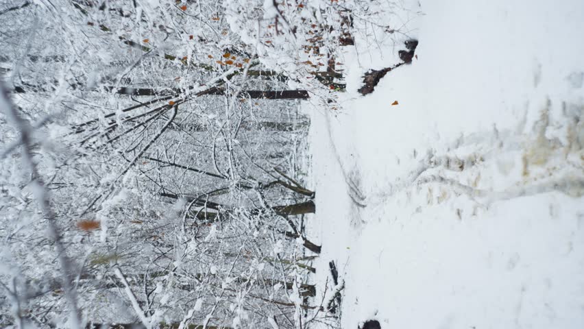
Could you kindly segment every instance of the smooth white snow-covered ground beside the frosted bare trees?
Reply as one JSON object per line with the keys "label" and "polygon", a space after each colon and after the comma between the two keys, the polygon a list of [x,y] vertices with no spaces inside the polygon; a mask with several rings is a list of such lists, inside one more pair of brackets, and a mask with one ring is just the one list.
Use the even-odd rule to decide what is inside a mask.
{"label": "smooth white snow-covered ground beside the frosted bare trees", "polygon": [[361,96],[403,47],[357,38],[306,106],[341,328],[584,328],[584,1],[414,2],[411,65]]}

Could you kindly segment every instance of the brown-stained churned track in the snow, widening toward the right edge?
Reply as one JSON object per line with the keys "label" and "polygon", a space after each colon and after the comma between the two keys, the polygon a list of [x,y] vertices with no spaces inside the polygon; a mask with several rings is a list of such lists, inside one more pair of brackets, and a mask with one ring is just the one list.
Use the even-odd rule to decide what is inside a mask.
{"label": "brown-stained churned track in the snow, widening toward the right edge", "polygon": [[[524,123],[520,125],[524,125]],[[566,153],[566,148],[577,155],[581,154],[584,145],[581,145],[579,141],[570,141],[570,138],[565,144],[547,138],[545,134],[548,125],[547,110],[544,110],[542,119],[534,123],[534,134],[529,134],[527,137],[520,134],[521,126],[518,127],[517,132],[511,130],[499,132],[494,129],[493,132],[479,132],[469,136],[461,136],[454,143],[450,143],[446,151],[440,155],[437,155],[434,149],[428,149],[426,156],[418,162],[419,164],[415,170],[405,176],[396,178],[393,183],[389,184],[389,189],[386,189],[386,191],[373,195],[372,197],[378,201],[374,203],[382,204],[384,200],[395,197],[401,191],[433,183],[448,186],[455,193],[467,195],[483,206],[516,197],[554,191],[572,197],[581,197],[584,195],[582,167],[568,161],[566,163],[569,165],[563,168],[565,171],[558,173],[553,170],[553,164],[570,153]],[[574,149],[574,145],[577,145],[576,149]],[[471,151],[460,157],[453,155],[453,153],[460,151],[464,147],[476,149],[476,151]],[[504,158],[504,156],[518,152],[523,156],[524,176],[522,180],[510,182],[507,188],[500,191],[463,184],[457,179],[460,175],[454,175],[455,177],[452,178],[448,177],[444,172],[462,173],[463,171],[473,170],[480,177],[480,173],[484,169],[479,167],[480,164],[496,162]],[[542,154],[545,155],[546,159],[544,163],[532,164],[539,169],[537,175],[528,173],[526,166],[533,162],[529,157],[535,157],[539,161]],[[438,173],[433,169],[436,169]],[[433,173],[428,173],[428,171],[433,171]],[[543,175],[544,173],[546,175]],[[512,185],[513,183],[515,186]]]}

